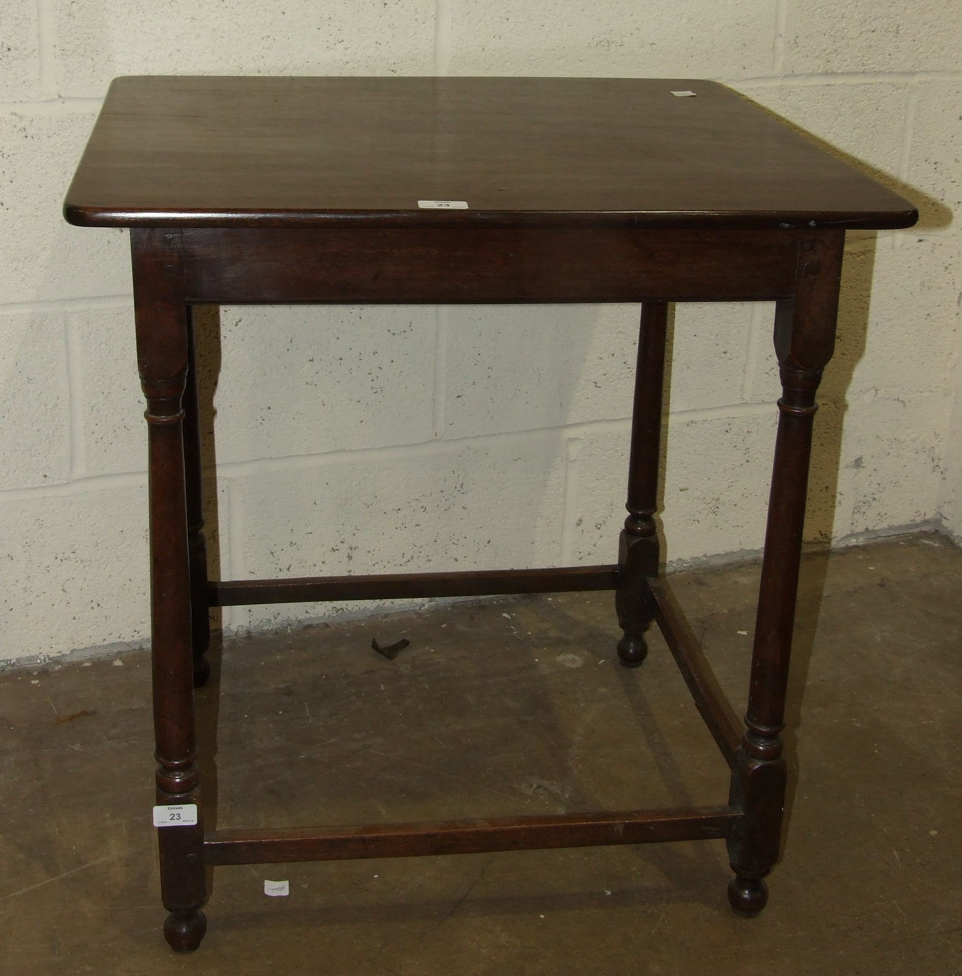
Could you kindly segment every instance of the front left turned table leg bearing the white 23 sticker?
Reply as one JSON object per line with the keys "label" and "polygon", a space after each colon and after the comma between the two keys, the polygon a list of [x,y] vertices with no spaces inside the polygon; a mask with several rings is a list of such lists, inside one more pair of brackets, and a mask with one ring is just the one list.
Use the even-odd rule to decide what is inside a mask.
{"label": "front left turned table leg bearing the white 23 sticker", "polygon": [[[190,569],[184,483],[183,406],[187,314],[182,301],[180,232],[131,234],[140,383],[147,402],[150,612],[157,803],[196,803]],[[160,883],[170,912],[164,935],[176,952],[200,945],[207,923],[204,831],[158,828]]]}

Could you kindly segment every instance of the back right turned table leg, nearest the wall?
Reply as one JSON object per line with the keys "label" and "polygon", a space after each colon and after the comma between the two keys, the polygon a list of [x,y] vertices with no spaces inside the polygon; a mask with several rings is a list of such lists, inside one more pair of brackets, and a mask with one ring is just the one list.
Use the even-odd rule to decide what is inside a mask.
{"label": "back right turned table leg, nearest the wall", "polygon": [[626,668],[637,668],[647,657],[645,630],[655,618],[648,578],[658,575],[659,545],[655,526],[658,508],[661,393],[664,378],[664,340],[668,321],[665,302],[646,302],[641,308],[638,364],[631,414],[628,458],[628,500],[618,547],[621,570],[615,591],[615,610],[624,635],[618,656]]}

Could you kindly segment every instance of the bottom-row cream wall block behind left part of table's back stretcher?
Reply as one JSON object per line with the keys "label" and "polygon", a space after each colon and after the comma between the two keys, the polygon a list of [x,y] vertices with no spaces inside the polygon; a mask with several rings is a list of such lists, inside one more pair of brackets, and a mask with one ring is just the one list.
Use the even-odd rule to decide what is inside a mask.
{"label": "bottom-row cream wall block behind left part of table's back stretcher", "polygon": [[[539,431],[238,468],[231,560],[258,578],[558,565],[564,452],[563,433]],[[324,609],[235,617],[257,624]]]}

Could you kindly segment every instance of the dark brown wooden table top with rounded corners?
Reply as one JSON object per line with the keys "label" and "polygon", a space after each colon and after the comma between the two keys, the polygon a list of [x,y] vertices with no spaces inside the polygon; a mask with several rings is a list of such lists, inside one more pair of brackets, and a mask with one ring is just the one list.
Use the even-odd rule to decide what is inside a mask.
{"label": "dark brown wooden table top with rounded corners", "polygon": [[118,78],[64,216],[87,226],[687,228],[917,217],[715,82],[452,77]]}

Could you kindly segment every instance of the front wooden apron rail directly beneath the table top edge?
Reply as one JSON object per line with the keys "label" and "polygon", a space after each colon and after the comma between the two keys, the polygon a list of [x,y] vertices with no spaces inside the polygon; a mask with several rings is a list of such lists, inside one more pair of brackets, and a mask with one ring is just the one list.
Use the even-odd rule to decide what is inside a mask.
{"label": "front wooden apron rail directly beneath the table top edge", "polygon": [[796,230],[186,228],[188,302],[740,302],[794,287]]}

